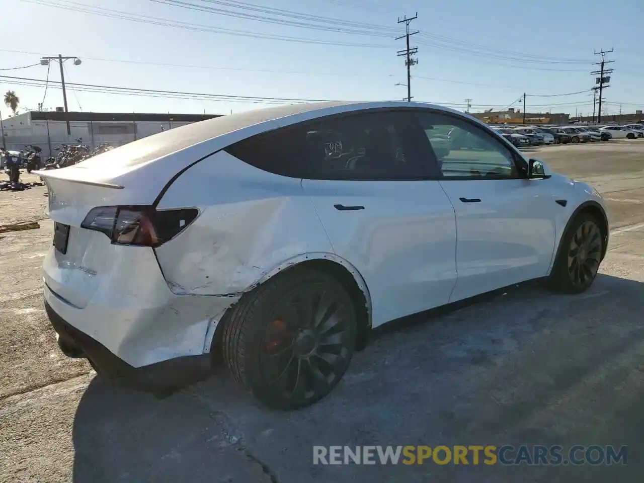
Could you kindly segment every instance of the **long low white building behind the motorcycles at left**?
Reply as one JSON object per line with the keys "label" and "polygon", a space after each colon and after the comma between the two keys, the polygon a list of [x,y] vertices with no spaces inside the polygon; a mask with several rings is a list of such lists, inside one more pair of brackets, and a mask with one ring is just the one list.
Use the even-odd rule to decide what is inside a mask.
{"label": "long low white building behind the motorcycles at left", "polygon": [[205,114],[151,114],[69,112],[71,135],[61,111],[28,111],[2,122],[3,147],[20,151],[25,144],[43,149],[44,156],[53,156],[53,149],[72,144],[82,138],[82,144],[93,148],[101,143],[117,147],[146,136],[178,128],[200,120],[219,117]]}

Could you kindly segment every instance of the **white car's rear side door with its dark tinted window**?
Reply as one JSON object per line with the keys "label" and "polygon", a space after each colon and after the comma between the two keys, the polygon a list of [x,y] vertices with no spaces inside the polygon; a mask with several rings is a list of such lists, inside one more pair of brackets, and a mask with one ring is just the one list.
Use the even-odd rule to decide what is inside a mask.
{"label": "white car's rear side door with its dark tinted window", "polygon": [[302,187],[335,254],[365,279],[374,327],[448,303],[455,213],[439,182],[426,179],[416,146],[426,139],[413,116],[362,111],[301,124],[289,137],[307,145]]}

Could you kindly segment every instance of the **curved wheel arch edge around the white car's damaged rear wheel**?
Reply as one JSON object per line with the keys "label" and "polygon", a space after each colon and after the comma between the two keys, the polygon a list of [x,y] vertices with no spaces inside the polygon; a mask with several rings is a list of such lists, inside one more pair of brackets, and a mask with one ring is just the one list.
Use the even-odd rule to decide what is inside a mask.
{"label": "curved wheel arch edge around the white car's damaged rear wheel", "polygon": [[[320,270],[329,274],[345,288],[352,300],[355,301],[358,321],[358,334],[355,349],[363,350],[368,341],[368,335],[372,327],[372,299],[365,279],[360,272],[352,263],[336,254],[313,252],[299,254],[289,258],[288,260],[279,263],[276,267],[264,272],[263,276],[255,281],[255,283],[253,283],[245,293],[252,292],[260,287],[260,285],[263,285],[263,283],[266,283],[270,279],[280,276],[285,272],[302,268]],[[214,357],[219,357],[222,352],[220,350],[220,344],[222,342],[223,327],[227,323],[234,305],[235,304],[231,305],[231,307],[225,311],[214,330],[210,350]]]}

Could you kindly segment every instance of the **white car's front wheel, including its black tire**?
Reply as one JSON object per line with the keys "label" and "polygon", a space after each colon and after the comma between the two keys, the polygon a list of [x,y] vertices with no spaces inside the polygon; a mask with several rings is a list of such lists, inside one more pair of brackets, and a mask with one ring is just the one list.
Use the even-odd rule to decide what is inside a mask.
{"label": "white car's front wheel, including its black tire", "polygon": [[597,276],[603,242],[598,220],[591,214],[577,216],[561,240],[548,280],[550,287],[567,294],[587,290]]}

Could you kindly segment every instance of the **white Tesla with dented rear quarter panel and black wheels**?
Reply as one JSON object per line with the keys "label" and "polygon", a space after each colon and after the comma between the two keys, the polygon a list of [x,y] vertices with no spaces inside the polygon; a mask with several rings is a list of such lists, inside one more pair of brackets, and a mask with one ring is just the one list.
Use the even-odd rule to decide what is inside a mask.
{"label": "white Tesla with dented rear quarter panel and black wheels", "polygon": [[269,406],[325,396],[368,332],[528,279],[587,289],[600,194],[413,102],[248,111],[38,173],[62,351],[171,392],[222,357]]}

